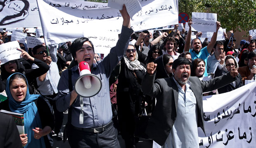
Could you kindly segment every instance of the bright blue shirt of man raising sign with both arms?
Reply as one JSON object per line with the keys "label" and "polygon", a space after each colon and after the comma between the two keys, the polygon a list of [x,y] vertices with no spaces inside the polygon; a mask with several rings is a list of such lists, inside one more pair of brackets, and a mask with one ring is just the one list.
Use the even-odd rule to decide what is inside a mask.
{"label": "bright blue shirt of man raising sign with both arms", "polygon": [[206,67],[207,67],[207,58],[208,58],[208,56],[209,56],[210,53],[207,51],[207,46],[204,47],[203,49],[201,49],[198,54],[195,53],[195,52],[193,51],[193,49],[190,49],[190,53],[191,53],[191,58],[192,58],[192,60],[195,60],[195,59],[197,59],[197,58],[201,58],[201,59],[204,60],[204,62],[205,62],[204,76],[208,76],[208,74],[207,74],[207,68],[206,68]]}

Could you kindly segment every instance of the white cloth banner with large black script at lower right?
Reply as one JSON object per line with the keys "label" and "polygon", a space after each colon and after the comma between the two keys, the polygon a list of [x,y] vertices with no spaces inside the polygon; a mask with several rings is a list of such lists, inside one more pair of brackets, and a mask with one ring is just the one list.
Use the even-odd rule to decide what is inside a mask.
{"label": "white cloth banner with large black script at lower right", "polygon": [[204,135],[200,148],[253,148],[256,145],[256,82],[203,98]]}

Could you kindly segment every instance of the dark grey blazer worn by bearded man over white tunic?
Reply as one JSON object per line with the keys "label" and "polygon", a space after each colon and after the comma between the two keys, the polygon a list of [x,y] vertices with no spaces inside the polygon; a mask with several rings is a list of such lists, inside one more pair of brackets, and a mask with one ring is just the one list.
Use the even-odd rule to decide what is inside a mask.
{"label": "dark grey blazer worn by bearded man over white tunic", "polygon": [[[143,93],[156,97],[157,99],[156,107],[149,120],[146,134],[156,141],[156,143],[163,146],[177,116],[178,87],[173,77],[156,79],[155,82],[154,79],[155,74],[150,76],[146,73],[141,85]],[[210,81],[200,81],[196,76],[190,76],[189,81],[191,83],[190,88],[197,100],[197,126],[201,127],[204,131],[203,92],[223,87],[235,81],[235,79],[228,73]]]}

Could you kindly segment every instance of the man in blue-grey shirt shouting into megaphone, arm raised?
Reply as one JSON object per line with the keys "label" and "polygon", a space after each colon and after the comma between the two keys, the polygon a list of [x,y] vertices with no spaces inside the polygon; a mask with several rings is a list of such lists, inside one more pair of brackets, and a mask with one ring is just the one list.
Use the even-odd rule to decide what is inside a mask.
{"label": "man in blue-grey shirt shouting into megaphone, arm raised", "polygon": [[120,148],[111,120],[109,76],[123,58],[133,33],[125,5],[120,12],[123,16],[120,39],[102,61],[93,64],[94,47],[86,37],[76,39],[70,46],[79,67],[62,73],[56,104],[59,111],[69,109],[64,141],[67,135],[72,148]]}

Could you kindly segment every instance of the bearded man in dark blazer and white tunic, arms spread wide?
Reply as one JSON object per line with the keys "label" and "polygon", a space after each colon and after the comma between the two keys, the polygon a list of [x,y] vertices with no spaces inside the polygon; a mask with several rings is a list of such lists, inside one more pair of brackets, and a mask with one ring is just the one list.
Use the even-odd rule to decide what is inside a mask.
{"label": "bearded man in dark blazer and white tunic, arms spread wide", "polygon": [[[156,143],[168,148],[199,148],[197,127],[204,131],[202,93],[235,81],[235,68],[210,81],[190,77],[191,62],[178,58],[173,62],[171,78],[156,79],[156,64],[149,63],[142,79],[143,93],[157,102],[146,133]],[[163,124],[164,123],[164,124]]]}

